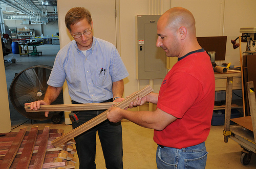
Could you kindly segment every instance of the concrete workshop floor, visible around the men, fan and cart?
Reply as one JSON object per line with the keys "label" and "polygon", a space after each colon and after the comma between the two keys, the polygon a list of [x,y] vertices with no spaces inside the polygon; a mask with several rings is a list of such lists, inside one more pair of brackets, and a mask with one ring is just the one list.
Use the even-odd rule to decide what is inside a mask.
{"label": "concrete workshop floor, visible around the men, fan and cart", "polygon": [[[42,51],[42,56],[19,57],[19,54],[9,54],[5,57],[7,60],[12,57],[16,59],[16,63],[5,63],[8,91],[15,73],[19,73],[33,65],[52,66],[55,55],[59,50],[59,45],[41,45],[38,46],[38,50]],[[9,104],[12,128],[28,120],[13,108],[11,102]],[[39,129],[43,129],[45,126],[50,126],[50,128],[62,128],[65,133],[72,130],[72,126],[66,125],[64,120],[62,120],[60,124],[53,124],[50,120],[45,120],[33,121],[33,124],[28,121],[12,131],[16,132],[21,127],[27,127],[27,130],[30,130],[32,126],[38,126]],[[122,126],[124,168],[157,168],[155,162],[157,145],[153,141],[153,130],[137,126],[127,120],[122,121]],[[97,168],[105,168],[98,138],[97,143],[96,165]],[[242,148],[238,143],[231,139],[229,139],[228,143],[224,143],[223,126],[211,126],[210,134],[206,140],[206,148],[209,152],[206,168],[256,168],[255,154],[252,155],[251,162],[244,166],[240,162]],[[78,168],[78,163],[76,164],[76,168]]]}

